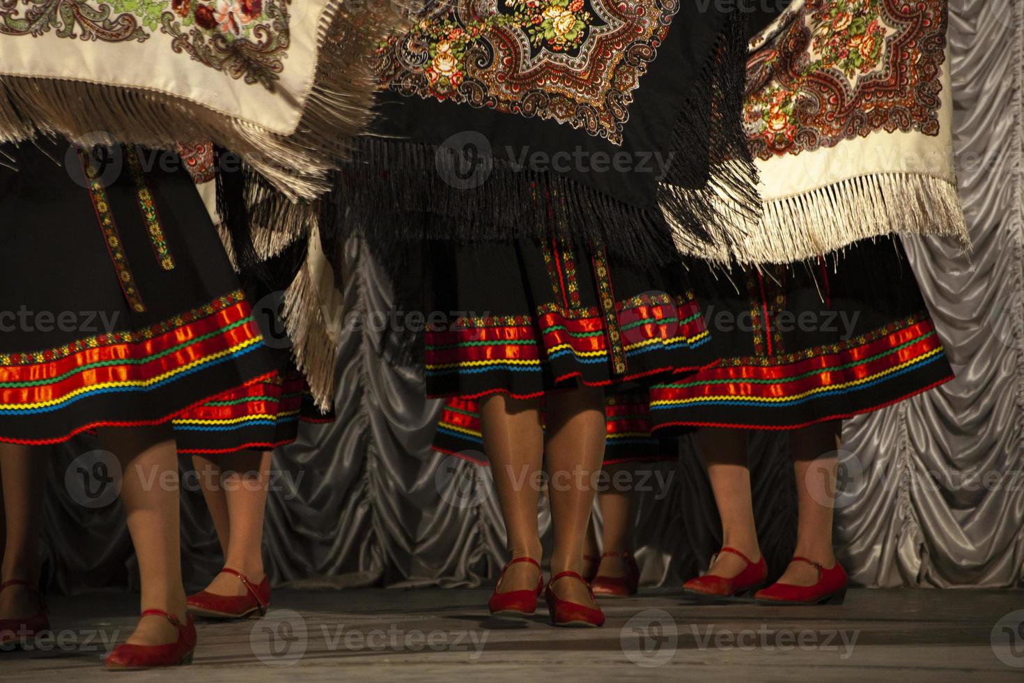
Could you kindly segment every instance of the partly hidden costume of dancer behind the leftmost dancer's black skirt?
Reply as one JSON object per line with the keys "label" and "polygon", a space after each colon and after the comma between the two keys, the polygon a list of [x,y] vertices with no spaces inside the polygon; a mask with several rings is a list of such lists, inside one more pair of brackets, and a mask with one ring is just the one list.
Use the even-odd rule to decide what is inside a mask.
{"label": "partly hidden costume of dancer behind the leftmost dancer's black skirt", "polygon": [[[239,271],[243,289],[267,340],[276,373],[260,382],[214,396],[173,421],[178,453],[218,455],[243,450],[267,451],[294,442],[301,423],[334,421],[334,365],[337,343],[324,323],[321,306],[332,298],[334,279],[316,278],[324,256],[318,234],[300,237],[249,226],[249,245],[258,267],[239,267],[236,242],[219,219],[216,202],[217,155],[210,142],[178,145],[186,168],[217,223],[224,251]],[[234,184],[221,193],[240,191]],[[329,266],[326,266],[329,269]],[[313,281],[324,286],[317,287]],[[283,310],[289,319],[283,321]],[[290,335],[300,340],[297,343]],[[299,370],[299,364],[305,372]],[[307,374],[317,391],[311,389]]]}

